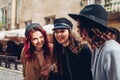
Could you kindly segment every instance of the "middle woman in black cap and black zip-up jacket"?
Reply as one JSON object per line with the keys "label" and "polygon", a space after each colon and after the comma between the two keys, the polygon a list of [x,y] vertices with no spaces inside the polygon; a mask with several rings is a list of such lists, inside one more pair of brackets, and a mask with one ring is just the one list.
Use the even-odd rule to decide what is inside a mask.
{"label": "middle woman in black cap and black zip-up jacket", "polygon": [[58,80],[92,80],[91,51],[72,35],[72,23],[66,18],[54,21],[54,61],[58,67]]}

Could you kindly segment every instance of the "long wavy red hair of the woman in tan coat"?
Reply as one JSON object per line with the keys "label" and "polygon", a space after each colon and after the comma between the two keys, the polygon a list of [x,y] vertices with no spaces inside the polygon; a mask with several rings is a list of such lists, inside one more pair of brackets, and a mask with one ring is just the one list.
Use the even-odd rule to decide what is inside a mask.
{"label": "long wavy red hair of the woman in tan coat", "polygon": [[47,56],[50,56],[50,47],[48,44],[46,31],[40,27],[35,27],[29,31],[28,35],[26,36],[26,40],[24,44],[25,58],[29,61],[34,60],[35,58],[35,54],[34,54],[35,47],[31,43],[31,34],[35,31],[40,31],[44,36],[44,40],[45,40],[45,43],[43,45],[44,57],[47,58]]}

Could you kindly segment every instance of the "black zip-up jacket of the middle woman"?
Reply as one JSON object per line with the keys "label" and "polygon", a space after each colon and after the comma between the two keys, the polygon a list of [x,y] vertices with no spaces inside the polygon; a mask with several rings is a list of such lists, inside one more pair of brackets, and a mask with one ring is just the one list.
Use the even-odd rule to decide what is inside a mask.
{"label": "black zip-up jacket of the middle woman", "polygon": [[91,51],[87,45],[78,54],[65,47],[63,55],[63,80],[92,80]]}

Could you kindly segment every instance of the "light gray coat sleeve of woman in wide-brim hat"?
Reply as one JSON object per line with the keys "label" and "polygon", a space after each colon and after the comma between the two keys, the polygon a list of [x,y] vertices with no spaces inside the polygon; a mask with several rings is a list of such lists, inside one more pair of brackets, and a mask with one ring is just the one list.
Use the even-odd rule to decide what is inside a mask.
{"label": "light gray coat sleeve of woman in wide-brim hat", "polygon": [[104,71],[107,80],[120,80],[120,49],[106,53]]}

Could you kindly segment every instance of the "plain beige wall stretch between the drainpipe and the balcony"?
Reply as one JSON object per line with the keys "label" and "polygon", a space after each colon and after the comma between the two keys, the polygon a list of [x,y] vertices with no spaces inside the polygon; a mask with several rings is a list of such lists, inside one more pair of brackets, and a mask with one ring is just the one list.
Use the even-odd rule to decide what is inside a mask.
{"label": "plain beige wall stretch between the drainpipe and the balcony", "polygon": [[66,17],[74,24],[75,21],[68,16],[68,13],[79,13],[80,0],[22,0],[21,9],[21,26],[24,21],[32,20],[45,25],[44,17],[55,15],[58,17]]}

